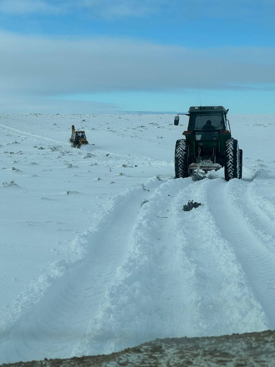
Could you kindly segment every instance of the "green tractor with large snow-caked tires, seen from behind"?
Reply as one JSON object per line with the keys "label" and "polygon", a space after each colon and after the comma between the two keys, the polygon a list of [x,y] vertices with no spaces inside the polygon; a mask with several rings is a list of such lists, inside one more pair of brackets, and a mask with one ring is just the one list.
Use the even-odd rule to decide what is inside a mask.
{"label": "green tractor with large snow-caked tires, seen from behind", "polygon": [[189,116],[185,139],[176,142],[176,178],[192,174],[203,177],[222,167],[226,181],[242,178],[242,149],[238,140],[231,138],[227,112],[223,106],[199,106],[175,117],[174,124],[179,125],[179,115]]}

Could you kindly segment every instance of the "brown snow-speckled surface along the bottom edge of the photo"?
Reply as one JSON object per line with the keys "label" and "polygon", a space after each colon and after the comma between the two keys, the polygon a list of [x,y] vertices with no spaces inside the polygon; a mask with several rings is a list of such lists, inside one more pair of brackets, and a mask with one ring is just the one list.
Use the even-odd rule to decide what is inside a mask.
{"label": "brown snow-speckled surface along the bottom edge of the photo", "polygon": [[202,338],[156,339],[110,355],[45,359],[1,367],[275,366],[275,331]]}

